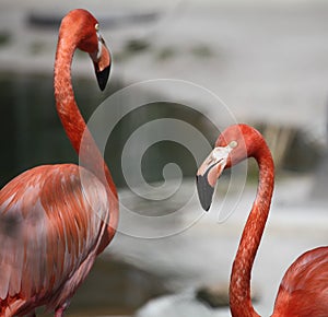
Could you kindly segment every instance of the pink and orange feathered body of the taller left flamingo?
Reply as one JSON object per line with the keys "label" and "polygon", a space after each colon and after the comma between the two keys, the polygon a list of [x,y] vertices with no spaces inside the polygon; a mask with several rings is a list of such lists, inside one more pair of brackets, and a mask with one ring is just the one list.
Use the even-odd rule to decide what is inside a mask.
{"label": "pink and orange feathered body of the taller left flamingo", "polygon": [[62,305],[91,269],[108,216],[105,186],[73,164],[35,167],[2,188],[0,313]]}

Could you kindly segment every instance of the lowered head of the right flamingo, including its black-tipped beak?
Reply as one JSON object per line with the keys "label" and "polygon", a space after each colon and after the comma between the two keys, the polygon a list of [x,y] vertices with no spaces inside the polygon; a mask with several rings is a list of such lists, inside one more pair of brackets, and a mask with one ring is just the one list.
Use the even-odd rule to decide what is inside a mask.
{"label": "lowered head of the right flamingo, including its black-tipped beak", "polygon": [[214,149],[196,175],[198,197],[206,211],[211,207],[215,184],[223,171],[255,155],[257,134],[260,136],[257,130],[246,125],[231,126],[220,134]]}

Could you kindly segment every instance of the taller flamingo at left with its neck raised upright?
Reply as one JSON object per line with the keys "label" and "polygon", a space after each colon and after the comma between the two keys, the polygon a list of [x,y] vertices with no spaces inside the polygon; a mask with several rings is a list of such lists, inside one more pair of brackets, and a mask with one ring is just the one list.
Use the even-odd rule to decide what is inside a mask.
{"label": "taller flamingo at left with its neck raised upright", "polygon": [[117,191],[78,109],[70,71],[74,50],[86,51],[99,89],[105,89],[110,55],[98,28],[87,11],[69,12],[61,21],[55,61],[57,111],[77,153],[84,133],[84,166],[37,166],[0,191],[1,316],[35,316],[38,306],[62,316],[116,232]]}

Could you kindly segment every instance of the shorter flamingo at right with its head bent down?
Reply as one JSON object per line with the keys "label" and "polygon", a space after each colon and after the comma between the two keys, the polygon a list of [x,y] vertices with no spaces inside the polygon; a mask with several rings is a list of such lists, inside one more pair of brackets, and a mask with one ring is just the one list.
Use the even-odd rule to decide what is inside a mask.
{"label": "shorter flamingo at right with its head bent down", "polygon": [[[274,166],[262,136],[247,125],[226,128],[215,148],[197,172],[197,188],[201,206],[209,210],[216,179],[248,157],[259,166],[259,185],[251,211],[245,224],[230,282],[232,316],[259,316],[250,300],[250,274],[269,214],[274,183]],[[300,256],[285,272],[274,303],[273,317],[328,316],[328,247],[323,246]]]}

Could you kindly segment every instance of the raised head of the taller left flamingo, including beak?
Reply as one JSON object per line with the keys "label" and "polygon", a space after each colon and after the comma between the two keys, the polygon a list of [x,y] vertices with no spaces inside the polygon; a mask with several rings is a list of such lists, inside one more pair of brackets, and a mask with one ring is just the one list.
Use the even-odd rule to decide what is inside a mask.
{"label": "raised head of the taller left flamingo, including beak", "polygon": [[103,91],[109,78],[112,58],[101,35],[98,21],[86,10],[75,9],[65,16],[61,28],[66,31],[66,34],[77,38],[79,49],[89,52],[99,89]]}

